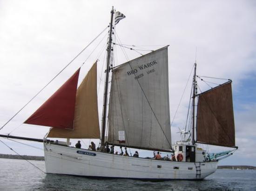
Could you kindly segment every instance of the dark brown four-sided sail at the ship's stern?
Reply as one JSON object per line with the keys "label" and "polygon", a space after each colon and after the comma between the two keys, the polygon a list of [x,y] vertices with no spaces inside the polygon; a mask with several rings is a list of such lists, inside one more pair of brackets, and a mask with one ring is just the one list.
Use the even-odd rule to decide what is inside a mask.
{"label": "dark brown four-sided sail at the ship's stern", "polygon": [[235,146],[231,81],[198,96],[196,139],[210,145]]}

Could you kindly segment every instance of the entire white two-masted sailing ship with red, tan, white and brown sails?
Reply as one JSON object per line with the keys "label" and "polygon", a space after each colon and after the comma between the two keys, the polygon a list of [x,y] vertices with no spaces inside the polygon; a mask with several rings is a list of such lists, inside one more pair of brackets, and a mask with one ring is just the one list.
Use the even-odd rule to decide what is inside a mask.
{"label": "entire white two-masted sailing ship with red, tan, white and brown sails", "polygon": [[[112,8],[101,130],[95,62],[78,88],[80,69],[25,121],[27,124],[51,127],[44,139],[0,136],[43,142],[47,173],[157,180],[203,179],[214,173],[218,160],[230,156],[237,149],[231,81],[197,94],[195,63],[192,132],[181,132],[183,138],[189,134],[192,140],[182,139],[172,145],[168,46],[112,67],[110,58],[114,14]],[[124,15],[118,12],[115,23],[122,18]],[[65,138],[67,141],[49,138]],[[70,146],[70,139],[100,139],[101,146],[98,151],[76,148]],[[234,149],[207,153],[199,148],[199,143]],[[173,153],[173,157],[170,160],[156,160],[107,153],[104,150],[106,144]]]}

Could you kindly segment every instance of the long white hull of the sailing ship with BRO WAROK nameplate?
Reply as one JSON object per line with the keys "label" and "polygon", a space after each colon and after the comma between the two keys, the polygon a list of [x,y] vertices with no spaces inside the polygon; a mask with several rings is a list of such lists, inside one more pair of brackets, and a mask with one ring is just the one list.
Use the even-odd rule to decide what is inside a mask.
{"label": "long white hull of the sailing ship with BRO WAROK nameplate", "polygon": [[[203,179],[215,172],[218,164],[134,158],[50,143],[44,144],[44,153],[47,173],[88,177]],[[88,153],[96,155],[90,156]]]}

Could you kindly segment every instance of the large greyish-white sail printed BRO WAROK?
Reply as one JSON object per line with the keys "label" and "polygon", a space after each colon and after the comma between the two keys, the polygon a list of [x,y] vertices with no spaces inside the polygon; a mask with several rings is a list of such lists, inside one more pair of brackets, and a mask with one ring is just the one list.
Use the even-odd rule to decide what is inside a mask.
{"label": "large greyish-white sail printed BRO WAROK", "polygon": [[[108,110],[108,142],[141,149],[171,149],[168,48],[113,70]],[[119,140],[119,132],[125,140]]]}

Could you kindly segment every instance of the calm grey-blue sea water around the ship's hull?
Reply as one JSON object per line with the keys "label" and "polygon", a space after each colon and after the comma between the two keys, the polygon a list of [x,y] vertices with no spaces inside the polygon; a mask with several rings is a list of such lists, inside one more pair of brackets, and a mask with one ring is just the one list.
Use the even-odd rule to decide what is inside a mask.
{"label": "calm grey-blue sea water around the ship's hull", "polygon": [[[44,161],[30,161],[45,171]],[[202,181],[140,181],[129,179],[89,179],[45,174],[26,160],[0,159],[0,191],[256,191],[256,171],[217,171]]]}

